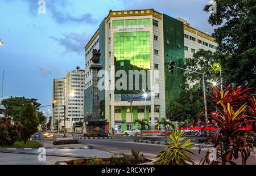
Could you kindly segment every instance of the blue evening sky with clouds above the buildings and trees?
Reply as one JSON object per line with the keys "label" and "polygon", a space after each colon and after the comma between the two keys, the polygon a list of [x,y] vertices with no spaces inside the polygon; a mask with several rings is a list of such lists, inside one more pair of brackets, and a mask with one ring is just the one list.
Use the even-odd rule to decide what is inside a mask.
{"label": "blue evening sky with clouds above the buildings and trees", "polygon": [[[3,96],[38,98],[52,102],[52,79],[66,70],[84,68],[84,46],[109,10],[154,8],[191,26],[213,32],[203,11],[208,0],[45,0],[46,14],[38,14],[38,0],[0,0],[0,71],[5,71]],[[0,83],[2,88],[2,82]]]}

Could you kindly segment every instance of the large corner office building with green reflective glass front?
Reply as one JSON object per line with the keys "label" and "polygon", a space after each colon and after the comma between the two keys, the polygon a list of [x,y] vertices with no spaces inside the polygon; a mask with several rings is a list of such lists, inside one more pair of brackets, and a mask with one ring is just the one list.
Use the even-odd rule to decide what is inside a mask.
{"label": "large corner office building with green reflective glass front", "polygon": [[[104,89],[100,91],[101,118],[108,120],[110,131],[112,128],[116,131],[137,128],[133,121],[145,117],[154,129],[155,123],[166,116],[166,106],[182,91],[184,72],[174,70],[174,74],[169,75],[168,63],[175,61],[176,66],[182,67],[184,58],[191,56],[185,53],[185,46],[200,48],[200,45],[194,46],[193,42],[197,46],[196,41],[186,41],[184,34],[202,43],[210,38],[203,32],[193,33],[189,29],[192,28],[180,19],[153,9],[110,11],[85,46],[85,119],[91,117],[93,106],[89,70],[92,50],[100,49],[100,63],[105,71],[99,75],[104,81]],[[209,41],[208,44],[217,45]],[[147,98],[143,97],[145,92]],[[133,100],[132,107],[129,100]]]}

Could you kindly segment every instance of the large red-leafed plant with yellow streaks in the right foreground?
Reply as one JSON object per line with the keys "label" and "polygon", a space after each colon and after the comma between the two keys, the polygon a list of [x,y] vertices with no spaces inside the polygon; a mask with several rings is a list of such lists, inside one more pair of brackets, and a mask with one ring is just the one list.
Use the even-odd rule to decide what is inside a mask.
{"label": "large red-leafed plant with yellow streaks in the right foreground", "polygon": [[[242,164],[246,164],[255,143],[255,129],[248,127],[249,123],[256,122],[256,101],[254,95],[249,93],[254,88],[233,88],[230,84],[225,89],[226,91],[220,91],[218,87],[211,89],[213,97],[208,101],[212,102],[213,109],[217,108],[217,113],[211,113],[208,119],[216,123],[217,127],[209,142],[214,144],[214,152],[207,152],[201,160],[203,164],[236,164],[234,160],[237,160],[239,153]],[[204,113],[205,111],[199,114],[195,123]],[[201,148],[204,146],[205,144]]]}

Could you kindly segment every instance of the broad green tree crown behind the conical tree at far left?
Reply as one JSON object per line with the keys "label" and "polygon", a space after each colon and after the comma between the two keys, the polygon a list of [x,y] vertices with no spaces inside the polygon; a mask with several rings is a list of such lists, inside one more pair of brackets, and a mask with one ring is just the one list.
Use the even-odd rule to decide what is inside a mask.
{"label": "broad green tree crown behind the conical tree at far left", "polygon": [[19,121],[19,113],[22,109],[28,105],[33,104],[34,109],[39,107],[41,104],[36,102],[37,100],[34,98],[25,98],[25,97],[10,97],[5,100],[2,100],[2,104],[6,107],[6,113],[8,116],[13,117],[15,122]]}

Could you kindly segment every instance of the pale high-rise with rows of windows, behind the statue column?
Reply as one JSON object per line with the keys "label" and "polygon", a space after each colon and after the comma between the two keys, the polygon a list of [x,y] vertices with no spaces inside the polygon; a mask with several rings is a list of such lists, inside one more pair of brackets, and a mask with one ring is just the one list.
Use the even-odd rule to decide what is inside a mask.
{"label": "pale high-rise with rows of windows, behind the statue column", "polygon": [[[66,78],[53,79],[53,122],[59,122],[58,129],[73,131],[76,122],[84,122],[85,71],[79,67],[66,72]],[[53,123],[52,123],[53,124]]]}

